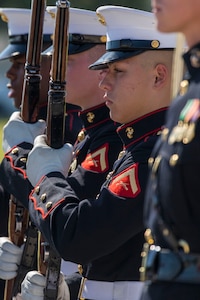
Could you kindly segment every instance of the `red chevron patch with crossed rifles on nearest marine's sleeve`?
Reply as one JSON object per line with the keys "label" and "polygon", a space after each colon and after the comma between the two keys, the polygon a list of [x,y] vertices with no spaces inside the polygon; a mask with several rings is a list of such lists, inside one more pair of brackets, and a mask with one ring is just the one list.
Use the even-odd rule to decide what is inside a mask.
{"label": "red chevron patch with crossed rifles on nearest marine's sleeve", "polygon": [[108,188],[119,197],[135,198],[141,191],[138,180],[138,164],[132,165],[115,176]]}

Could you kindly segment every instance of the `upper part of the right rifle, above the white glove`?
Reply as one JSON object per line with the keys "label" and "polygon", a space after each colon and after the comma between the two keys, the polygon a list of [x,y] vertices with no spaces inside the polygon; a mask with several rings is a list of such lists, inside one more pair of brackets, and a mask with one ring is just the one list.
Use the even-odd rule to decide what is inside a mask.
{"label": "upper part of the right rifle, above the white glove", "polygon": [[57,1],[47,110],[47,144],[52,148],[64,145],[69,6],[68,1]]}

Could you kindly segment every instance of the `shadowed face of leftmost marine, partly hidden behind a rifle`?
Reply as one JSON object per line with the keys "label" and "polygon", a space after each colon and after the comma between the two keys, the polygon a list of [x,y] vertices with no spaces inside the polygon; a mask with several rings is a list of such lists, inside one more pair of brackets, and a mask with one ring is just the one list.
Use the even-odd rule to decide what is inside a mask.
{"label": "shadowed face of leftmost marine, partly hidden behind a rifle", "polygon": [[10,62],[11,66],[6,72],[6,76],[10,80],[7,84],[7,88],[9,89],[8,97],[13,98],[14,106],[19,108],[22,100],[25,54],[13,57],[10,59]]}

